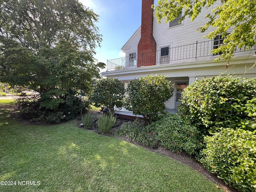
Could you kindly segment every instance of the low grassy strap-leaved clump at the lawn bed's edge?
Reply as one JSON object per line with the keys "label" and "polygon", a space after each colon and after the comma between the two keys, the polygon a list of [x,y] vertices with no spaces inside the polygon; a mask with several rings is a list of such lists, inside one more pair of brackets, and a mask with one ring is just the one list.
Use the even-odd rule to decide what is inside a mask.
{"label": "low grassy strap-leaved clump at the lawn bed's edge", "polygon": [[116,135],[126,136],[130,140],[136,141],[144,146],[158,146],[155,134],[149,132],[142,122],[124,122],[116,132]]}

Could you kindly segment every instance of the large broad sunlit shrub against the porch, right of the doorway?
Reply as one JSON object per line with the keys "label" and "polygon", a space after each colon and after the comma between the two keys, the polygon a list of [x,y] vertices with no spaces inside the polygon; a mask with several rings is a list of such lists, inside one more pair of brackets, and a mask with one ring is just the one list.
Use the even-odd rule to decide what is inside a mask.
{"label": "large broad sunlit shrub against the porch, right of the doorway", "polygon": [[238,126],[253,130],[255,97],[256,78],[204,78],[186,87],[179,110],[201,131]]}

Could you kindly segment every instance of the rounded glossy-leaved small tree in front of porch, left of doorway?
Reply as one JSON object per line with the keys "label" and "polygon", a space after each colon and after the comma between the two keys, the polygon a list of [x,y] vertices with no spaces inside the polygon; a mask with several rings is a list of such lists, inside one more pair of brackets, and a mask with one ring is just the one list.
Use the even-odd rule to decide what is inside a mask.
{"label": "rounded glossy-leaved small tree in front of porch, left of doorway", "polygon": [[164,102],[173,96],[173,91],[173,85],[163,75],[132,80],[127,88],[126,109],[152,122],[164,112]]}

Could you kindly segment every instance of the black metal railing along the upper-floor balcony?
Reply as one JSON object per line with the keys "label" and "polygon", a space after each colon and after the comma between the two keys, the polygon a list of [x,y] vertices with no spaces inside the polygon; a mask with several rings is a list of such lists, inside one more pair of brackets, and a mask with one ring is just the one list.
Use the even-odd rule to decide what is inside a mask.
{"label": "black metal railing along the upper-floor balcony", "polygon": [[[137,61],[140,60],[141,66],[148,65],[158,65],[158,64],[170,64],[175,62],[186,62],[192,60],[204,60],[207,58],[213,58],[214,55],[211,53],[213,48],[213,40],[196,42],[192,44],[187,44],[183,46],[172,47],[168,49],[168,54],[161,54],[163,50],[157,50],[156,55],[153,52],[146,52],[138,54],[136,56],[127,56],[112,60],[107,60],[107,70],[123,70],[126,68],[131,68],[137,66]],[[234,53],[245,52],[256,50],[256,44],[250,49],[240,48],[236,49]],[[247,54],[247,53],[246,53]],[[249,54],[249,53],[248,53]],[[162,56],[161,56],[162,55]],[[154,61],[153,57],[156,57],[156,63],[150,63]],[[146,58],[146,59],[145,59]]]}

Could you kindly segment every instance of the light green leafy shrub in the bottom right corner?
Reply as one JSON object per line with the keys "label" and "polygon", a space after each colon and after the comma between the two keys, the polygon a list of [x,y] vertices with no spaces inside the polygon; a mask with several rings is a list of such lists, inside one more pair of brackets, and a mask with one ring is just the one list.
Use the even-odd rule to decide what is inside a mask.
{"label": "light green leafy shrub in the bottom right corner", "polygon": [[256,191],[256,135],[248,130],[221,128],[206,136],[200,162],[227,184],[243,192]]}

